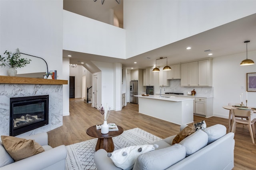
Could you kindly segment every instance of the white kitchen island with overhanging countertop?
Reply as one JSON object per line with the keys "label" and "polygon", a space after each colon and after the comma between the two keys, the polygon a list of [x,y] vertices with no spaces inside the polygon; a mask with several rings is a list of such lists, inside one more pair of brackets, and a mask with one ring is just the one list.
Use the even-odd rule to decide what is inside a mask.
{"label": "white kitchen island with overhanging countertop", "polygon": [[139,113],[178,125],[194,122],[193,99],[176,96],[136,95]]}

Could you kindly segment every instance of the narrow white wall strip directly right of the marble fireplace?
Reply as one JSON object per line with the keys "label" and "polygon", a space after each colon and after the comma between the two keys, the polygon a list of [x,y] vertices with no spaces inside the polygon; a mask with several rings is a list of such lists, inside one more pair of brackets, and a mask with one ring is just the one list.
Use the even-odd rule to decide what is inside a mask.
{"label": "narrow white wall strip directly right of the marble fireplace", "polygon": [[69,115],[69,58],[62,61],[63,79],[68,80],[68,84],[63,85],[63,115]]}

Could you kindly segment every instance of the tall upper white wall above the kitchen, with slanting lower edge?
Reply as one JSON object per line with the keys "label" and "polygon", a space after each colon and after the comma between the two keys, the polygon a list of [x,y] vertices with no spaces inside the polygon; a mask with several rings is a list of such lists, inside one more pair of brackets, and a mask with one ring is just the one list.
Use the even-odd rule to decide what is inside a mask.
{"label": "tall upper white wall above the kitchen, with slanting lower edge", "polygon": [[124,0],[126,58],[255,13],[250,0]]}

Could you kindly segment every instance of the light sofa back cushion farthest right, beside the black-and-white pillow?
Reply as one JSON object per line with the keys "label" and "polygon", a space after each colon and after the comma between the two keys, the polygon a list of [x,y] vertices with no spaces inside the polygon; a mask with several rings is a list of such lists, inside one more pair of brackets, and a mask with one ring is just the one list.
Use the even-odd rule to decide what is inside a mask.
{"label": "light sofa back cushion farthest right, beside the black-and-white pillow", "polygon": [[216,125],[207,127],[203,131],[208,135],[208,144],[209,144],[226,135],[227,129],[224,125],[216,124]]}

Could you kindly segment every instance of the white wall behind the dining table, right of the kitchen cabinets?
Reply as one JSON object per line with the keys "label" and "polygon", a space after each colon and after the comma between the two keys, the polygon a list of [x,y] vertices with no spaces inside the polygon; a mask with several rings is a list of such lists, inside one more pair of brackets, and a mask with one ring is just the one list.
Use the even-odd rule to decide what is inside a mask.
{"label": "white wall behind the dining table, right of the kitchen cabinets", "polygon": [[[213,59],[214,104],[213,113],[217,117],[228,118],[229,111],[222,106],[240,103],[243,93],[246,100],[246,73],[256,72],[256,64],[240,66],[246,53],[217,57]],[[248,52],[248,59],[256,62],[256,51]],[[244,89],[241,89],[244,86]],[[248,106],[256,107],[256,92],[248,92]],[[253,115],[256,118],[256,114]]]}

